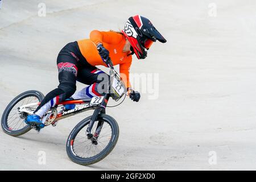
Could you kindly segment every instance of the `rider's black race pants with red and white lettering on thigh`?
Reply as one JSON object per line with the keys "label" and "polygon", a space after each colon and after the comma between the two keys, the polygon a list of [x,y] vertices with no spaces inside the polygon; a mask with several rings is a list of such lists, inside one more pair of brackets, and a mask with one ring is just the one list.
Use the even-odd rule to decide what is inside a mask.
{"label": "rider's black race pants with red and white lettering on thigh", "polygon": [[[44,97],[35,113],[43,106],[47,107],[48,110],[48,107],[57,105],[59,102],[71,97],[76,91],[76,81],[86,85],[102,82],[102,80],[98,80],[98,74],[93,73],[96,70],[97,72],[100,70],[86,61],[79,50],[77,42],[68,43],[61,49],[57,56],[57,67],[60,84]],[[100,72],[102,73],[102,71]],[[47,103],[50,106],[46,105]],[[42,114],[39,115],[42,117]]]}

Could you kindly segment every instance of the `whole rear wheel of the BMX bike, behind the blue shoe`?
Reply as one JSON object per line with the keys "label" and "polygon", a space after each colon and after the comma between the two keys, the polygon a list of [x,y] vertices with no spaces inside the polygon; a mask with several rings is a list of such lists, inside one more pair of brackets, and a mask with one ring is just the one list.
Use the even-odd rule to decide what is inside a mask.
{"label": "whole rear wheel of the BMX bike, behind the blue shoe", "polygon": [[[3,111],[1,126],[3,131],[14,137],[27,133],[31,130],[31,126],[24,122],[26,119],[26,113],[18,113],[18,107],[26,104],[31,104],[35,102],[41,102],[44,95],[36,90],[29,90],[19,94],[15,97],[9,105],[7,105],[5,111]],[[34,111],[37,106],[31,106],[30,110]]]}

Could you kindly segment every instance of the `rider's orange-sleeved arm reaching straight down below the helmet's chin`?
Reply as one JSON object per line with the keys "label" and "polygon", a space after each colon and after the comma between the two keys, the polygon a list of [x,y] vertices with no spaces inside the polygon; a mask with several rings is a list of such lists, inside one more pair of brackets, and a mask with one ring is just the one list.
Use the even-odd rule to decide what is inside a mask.
{"label": "rider's orange-sleeved arm reaching straight down below the helmet's chin", "polygon": [[125,82],[126,88],[131,88],[131,84],[129,80],[130,67],[131,67],[131,55],[127,57],[127,60],[125,60],[125,63],[119,64],[120,76],[123,82]]}

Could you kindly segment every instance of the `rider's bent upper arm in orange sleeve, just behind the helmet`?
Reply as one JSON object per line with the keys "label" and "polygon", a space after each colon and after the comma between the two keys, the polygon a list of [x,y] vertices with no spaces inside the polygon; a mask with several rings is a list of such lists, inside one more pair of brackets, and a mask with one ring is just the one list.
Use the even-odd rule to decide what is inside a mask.
{"label": "rider's bent upper arm in orange sleeve, just behind the helmet", "polygon": [[93,30],[90,32],[90,40],[92,40],[92,42],[96,44],[96,46],[102,42],[117,44],[121,42],[122,39],[123,39],[123,35],[118,34],[117,32],[114,32],[114,31],[105,32],[105,31]]}

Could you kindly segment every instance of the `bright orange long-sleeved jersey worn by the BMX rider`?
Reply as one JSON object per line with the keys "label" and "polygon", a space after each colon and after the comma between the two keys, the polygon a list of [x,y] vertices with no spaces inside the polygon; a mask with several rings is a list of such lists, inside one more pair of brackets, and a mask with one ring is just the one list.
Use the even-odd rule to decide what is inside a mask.
{"label": "bright orange long-sleeved jersey worn by the BMX rider", "polygon": [[109,57],[112,59],[114,65],[119,64],[119,72],[122,80],[125,82],[126,88],[131,87],[129,81],[129,69],[131,66],[131,55],[127,56],[129,52],[123,52],[123,47],[126,43],[126,38],[122,34],[113,31],[97,31],[90,32],[90,39],[82,39],[77,41],[82,56],[88,61],[90,65],[104,65],[106,64],[98,54],[96,45],[102,43],[108,49]]}

